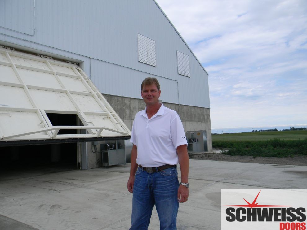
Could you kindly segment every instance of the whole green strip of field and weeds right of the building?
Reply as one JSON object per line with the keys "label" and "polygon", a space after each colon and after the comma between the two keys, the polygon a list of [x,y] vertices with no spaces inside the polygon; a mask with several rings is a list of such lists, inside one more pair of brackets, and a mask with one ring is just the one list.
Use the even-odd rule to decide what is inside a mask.
{"label": "whole green strip of field and weeds right of the building", "polygon": [[245,132],[212,135],[214,148],[227,155],[253,157],[307,156],[307,131]]}

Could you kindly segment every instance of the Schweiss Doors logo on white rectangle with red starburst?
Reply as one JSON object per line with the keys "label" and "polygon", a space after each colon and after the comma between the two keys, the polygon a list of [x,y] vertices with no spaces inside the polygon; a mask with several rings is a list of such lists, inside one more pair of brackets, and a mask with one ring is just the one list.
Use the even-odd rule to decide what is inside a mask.
{"label": "Schweiss Doors logo on white rectangle with red starburst", "polygon": [[221,229],[306,230],[307,190],[221,190]]}

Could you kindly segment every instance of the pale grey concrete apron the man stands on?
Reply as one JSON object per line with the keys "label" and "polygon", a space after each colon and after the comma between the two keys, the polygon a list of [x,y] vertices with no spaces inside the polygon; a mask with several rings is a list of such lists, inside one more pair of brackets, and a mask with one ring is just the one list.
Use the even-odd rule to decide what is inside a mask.
{"label": "pale grey concrete apron the man stands on", "polygon": [[[129,169],[125,165],[18,177],[2,172],[0,229],[129,229]],[[177,228],[220,229],[221,189],[306,189],[306,175],[306,166],[191,159],[189,201],[179,206]],[[149,229],[159,229],[155,209]]]}

